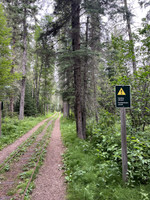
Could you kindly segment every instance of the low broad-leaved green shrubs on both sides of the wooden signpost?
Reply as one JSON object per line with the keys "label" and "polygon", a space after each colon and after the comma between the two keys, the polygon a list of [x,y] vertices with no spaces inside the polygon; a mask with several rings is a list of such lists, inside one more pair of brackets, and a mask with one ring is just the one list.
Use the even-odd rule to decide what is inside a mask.
{"label": "low broad-leaved green shrubs on both sides of the wooden signpost", "polygon": [[[99,124],[93,127],[91,141],[99,160],[116,162],[121,171],[121,131],[118,128],[120,122],[116,122],[114,126],[108,126],[109,119],[107,115],[105,123],[102,117],[102,121],[100,120]],[[132,184],[148,183],[150,181],[150,139],[144,132],[133,133],[134,129],[129,126],[130,123],[127,121],[128,179]]]}

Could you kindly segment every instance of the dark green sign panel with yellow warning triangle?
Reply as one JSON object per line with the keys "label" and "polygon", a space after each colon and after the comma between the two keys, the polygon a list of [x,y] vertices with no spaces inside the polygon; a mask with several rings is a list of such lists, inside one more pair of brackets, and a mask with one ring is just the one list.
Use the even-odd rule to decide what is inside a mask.
{"label": "dark green sign panel with yellow warning triangle", "polygon": [[130,108],[130,86],[116,86],[116,107]]}

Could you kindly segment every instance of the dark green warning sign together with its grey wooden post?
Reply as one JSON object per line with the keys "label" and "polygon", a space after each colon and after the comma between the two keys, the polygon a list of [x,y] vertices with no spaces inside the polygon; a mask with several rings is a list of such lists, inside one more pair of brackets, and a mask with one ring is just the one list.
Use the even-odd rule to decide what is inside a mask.
{"label": "dark green warning sign together with its grey wooden post", "polygon": [[130,86],[116,86],[116,107],[120,108],[121,117],[121,148],[122,148],[122,179],[127,181],[127,136],[126,136],[126,109],[130,108]]}

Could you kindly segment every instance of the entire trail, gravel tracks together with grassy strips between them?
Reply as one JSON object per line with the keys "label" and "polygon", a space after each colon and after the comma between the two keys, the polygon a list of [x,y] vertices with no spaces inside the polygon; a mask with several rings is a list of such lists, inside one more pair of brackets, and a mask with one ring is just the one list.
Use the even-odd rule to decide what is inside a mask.
{"label": "entire trail, gravel tracks together with grassy strips between them", "polygon": [[[28,197],[33,200],[65,200],[66,185],[61,157],[64,147],[61,141],[59,118],[56,119],[51,134],[50,129],[52,130],[54,121],[55,119],[43,120],[0,152],[0,200],[23,200],[25,194],[26,197],[28,196],[28,191],[32,188],[30,186],[28,190],[25,190],[30,182],[29,175],[32,177],[35,166],[38,167],[38,163],[43,162],[46,151],[44,165],[35,179],[35,189],[32,188],[32,197]],[[22,144],[23,146],[21,146]],[[11,162],[2,169],[1,167],[10,153],[18,148],[20,151],[14,154]],[[30,185],[33,184],[32,182]],[[25,193],[26,191],[27,193]]]}

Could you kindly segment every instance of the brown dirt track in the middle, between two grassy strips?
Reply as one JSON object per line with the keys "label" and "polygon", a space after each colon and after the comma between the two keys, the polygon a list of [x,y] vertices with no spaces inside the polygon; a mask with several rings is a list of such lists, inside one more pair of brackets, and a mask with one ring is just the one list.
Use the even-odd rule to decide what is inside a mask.
{"label": "brown dirt track in the middle, between two grassy strips", "polygon": [[[39,146],[38,148],[38,143],[42,141],[44,138],[45,134],[47,133],[47,128],[51,125],[52,120],[49,121],[49,123],[44,127],[43,131],[37,135],[36,139],[33,138],[33,143],[32,139],[30,140],[30,145],[27,146],[27,149],[22,152],[22,155],[19,156],[14,162],[9,163],[9,170],[3,173],[0,173],[0,200],[6,200],[6,199],[15,199],[15,200],[20,200],[23,199],[21,198],[21,195],[19,195],[18,191],[15,191],[16,187],[19,185],[19,182],[21,179],[19,178],[20,173],[25,173],[23,168],[28,166],[30,163],[30,160],[33,155],[37,152],[38,149],[41,147]],[[35,139],[35,140],[34,140]],[[41,144],[42,145],[42,144]],[[12,191],[15,191],[14,194],[12,194]],[[11,196],[9,194],[11,193]]]}

